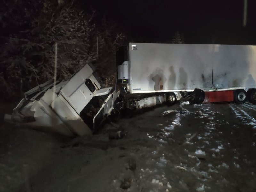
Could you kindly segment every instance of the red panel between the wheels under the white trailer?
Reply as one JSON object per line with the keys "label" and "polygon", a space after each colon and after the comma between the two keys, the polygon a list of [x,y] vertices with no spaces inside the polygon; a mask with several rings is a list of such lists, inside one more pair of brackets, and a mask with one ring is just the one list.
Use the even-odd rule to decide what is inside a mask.
{"label": "red panel between the wheels under the white trailer", "polygon": [[204,103],[233,101],[233,90],[205,92]]}

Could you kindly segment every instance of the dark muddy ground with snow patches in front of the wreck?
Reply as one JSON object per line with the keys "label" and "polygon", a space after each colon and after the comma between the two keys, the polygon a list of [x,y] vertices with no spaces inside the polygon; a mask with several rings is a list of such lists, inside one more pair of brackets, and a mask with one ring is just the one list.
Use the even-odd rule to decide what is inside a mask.
{"label": "dark muddy ground with snow patches in front of the wreck", "polygon": [[164,106],[68,142],[4,124],[0,191],[256,191],[255,109]]}

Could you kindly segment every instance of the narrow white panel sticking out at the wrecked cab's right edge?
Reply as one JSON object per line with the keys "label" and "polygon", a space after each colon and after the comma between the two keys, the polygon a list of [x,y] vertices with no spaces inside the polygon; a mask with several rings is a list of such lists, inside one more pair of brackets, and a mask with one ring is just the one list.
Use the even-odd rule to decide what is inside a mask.
{"label": "narrow white panel sticking out at the wrecked cab's right edge", "polygon": [[114,103],[117,97],[119,97],[119,93],[120,91],[114,91],[112,94],[108,95],[100,110],[93,118],[93,132],[95,132],[100,124],[110,115],[111,111],[114,109]]}

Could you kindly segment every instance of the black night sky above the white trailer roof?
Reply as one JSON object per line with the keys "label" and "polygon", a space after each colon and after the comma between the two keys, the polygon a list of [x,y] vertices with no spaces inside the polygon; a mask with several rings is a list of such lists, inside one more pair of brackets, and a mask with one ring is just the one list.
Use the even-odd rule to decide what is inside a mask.
{"label": "black night sky above the white trailer roof", "polygon": [[246,27],[242,26],[244,0],[113,0],[96,4],[117,20],[133,41],[170,43],[178,30],[185,43],[256,44],[254,0],[248,0]]}

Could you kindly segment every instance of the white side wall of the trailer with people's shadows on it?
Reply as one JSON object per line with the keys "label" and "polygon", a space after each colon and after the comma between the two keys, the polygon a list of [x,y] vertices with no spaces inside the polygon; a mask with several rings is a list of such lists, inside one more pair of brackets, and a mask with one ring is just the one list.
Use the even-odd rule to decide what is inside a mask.
{"label": "white side wall of the trailer with people's shadows on it", "polygon": [[130,91],[254,88],[255,50],[241,45],[129,43]]}

